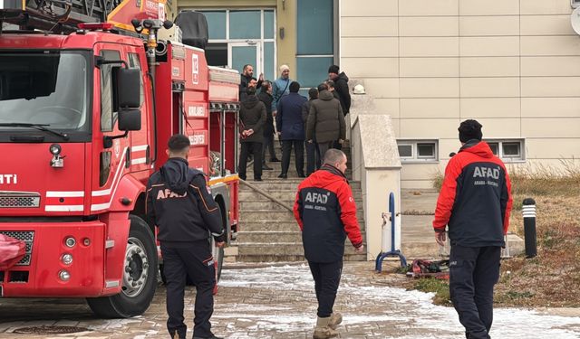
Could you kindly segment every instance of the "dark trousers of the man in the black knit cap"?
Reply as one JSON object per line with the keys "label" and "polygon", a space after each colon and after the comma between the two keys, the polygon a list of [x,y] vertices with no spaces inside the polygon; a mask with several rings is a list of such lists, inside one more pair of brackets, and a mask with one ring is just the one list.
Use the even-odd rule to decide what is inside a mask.
{"label": "dark trousers of the man in the black knit cap", "polygon": [[488,339],[493,322],[493,287],[499,278],[497,246],[451,245],[449,293],[469,339]]}

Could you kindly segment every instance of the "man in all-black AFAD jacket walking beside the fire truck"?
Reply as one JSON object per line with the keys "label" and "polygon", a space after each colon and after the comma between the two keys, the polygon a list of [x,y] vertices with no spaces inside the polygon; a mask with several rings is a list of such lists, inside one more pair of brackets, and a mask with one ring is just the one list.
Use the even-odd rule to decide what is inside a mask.
{"label": "man in all-black AFAD jacket walking beside the fire truck", "polygon": [[159,228],[158,239],[167,278],[167,328],[172,338],[185,338],[183,297],[186,278],[196,286],[194,339],[219,339],[211,333],[209,318],[214,309],[216,285],[209,233],[223,247],[226,232],[218,204],[208,193],[204,174],[189,168],[189,138],[169,138],[169,160],[149,179],[146,208],[150,221]]}

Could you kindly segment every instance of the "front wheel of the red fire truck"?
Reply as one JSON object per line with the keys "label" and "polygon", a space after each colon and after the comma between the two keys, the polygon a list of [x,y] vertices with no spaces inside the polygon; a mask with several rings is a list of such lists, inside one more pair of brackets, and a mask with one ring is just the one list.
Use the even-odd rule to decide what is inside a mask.
{"label": "front wheel of the red fire truck", "polygon": [[131,230],[123,261],[121,293],[111,297],[87,298],[95,315],[128,318],[149,308],[157,287],[157,248],[145,221],[131,215]]}

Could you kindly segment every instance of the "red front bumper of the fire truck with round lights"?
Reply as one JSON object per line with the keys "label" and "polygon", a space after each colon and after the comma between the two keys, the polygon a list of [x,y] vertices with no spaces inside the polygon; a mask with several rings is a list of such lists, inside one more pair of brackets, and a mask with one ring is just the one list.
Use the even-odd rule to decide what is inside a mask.
{"label": "red front bumper of the fire truck with round lights", "polygon": [[3,222],[0,233],[26,244],[24,258],[0,270],[1,297],[102,296],[102,222]]}

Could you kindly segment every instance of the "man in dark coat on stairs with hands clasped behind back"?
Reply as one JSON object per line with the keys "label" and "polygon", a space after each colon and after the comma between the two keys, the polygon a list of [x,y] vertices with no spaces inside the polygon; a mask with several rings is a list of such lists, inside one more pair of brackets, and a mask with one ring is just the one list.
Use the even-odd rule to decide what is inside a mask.
{"label": "man in dark coat on stairs with hands clasped behind back", "polygon": [[240,142],[239,178],[246,180],[247,155],[254,155],[254,180],[262,181],[262,143],[264,142],[264,124],[266,123],[266,106],[257,99],[256,89],[247,88],[247,99],[239,109]]}

